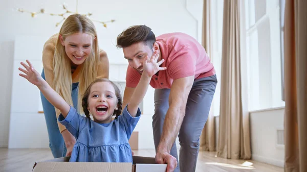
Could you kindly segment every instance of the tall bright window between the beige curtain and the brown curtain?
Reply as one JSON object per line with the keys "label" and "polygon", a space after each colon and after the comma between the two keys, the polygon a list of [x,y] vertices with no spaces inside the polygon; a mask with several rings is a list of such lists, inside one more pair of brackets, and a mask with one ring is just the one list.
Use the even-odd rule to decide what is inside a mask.
{"label": "tall bright window between the beige curtain and the brown curtain", "polygon": [[284,106],[279,1],[244,1],[250,111]]}

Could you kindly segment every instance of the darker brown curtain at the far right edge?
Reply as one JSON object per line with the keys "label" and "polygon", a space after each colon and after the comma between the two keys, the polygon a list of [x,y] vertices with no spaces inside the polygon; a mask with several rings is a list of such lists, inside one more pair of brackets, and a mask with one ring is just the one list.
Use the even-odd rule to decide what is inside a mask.
{"label": "darker brown curtain at the far right edge", "polygon": [[284,141],[286,172],[307,171],[307,1],[286,0]]}

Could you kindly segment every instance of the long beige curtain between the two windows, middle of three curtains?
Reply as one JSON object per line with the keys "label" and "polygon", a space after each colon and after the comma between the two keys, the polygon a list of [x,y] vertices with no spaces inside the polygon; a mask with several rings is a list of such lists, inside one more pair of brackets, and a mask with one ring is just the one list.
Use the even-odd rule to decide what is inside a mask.
{"label": "long beige curtain between the two windows, middle of three curtains", "polygon": [[220,126],[217,156],[250,159],[249,113],[242,94],[239,0],[224,1]]}

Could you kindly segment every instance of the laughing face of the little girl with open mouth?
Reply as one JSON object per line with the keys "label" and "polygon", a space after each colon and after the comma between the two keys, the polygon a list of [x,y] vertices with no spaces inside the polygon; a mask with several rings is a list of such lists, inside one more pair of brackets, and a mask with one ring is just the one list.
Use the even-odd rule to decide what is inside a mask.
{"label": "laughing face of the little girl with open mouth", "polygon": [[117,97],[113,85],[109,82],[97,82],[92,85],[87,109],[98,123],[109,123],[114,110],[117,110]]}

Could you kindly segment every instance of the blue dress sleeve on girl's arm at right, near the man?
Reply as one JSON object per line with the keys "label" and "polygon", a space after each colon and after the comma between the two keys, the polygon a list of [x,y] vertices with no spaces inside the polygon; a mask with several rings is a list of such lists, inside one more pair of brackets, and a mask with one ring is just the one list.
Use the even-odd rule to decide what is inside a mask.
{"label": "blue dress sleeve on girl's arm at right, near the man", "polygon": [[122,128],[126,131],[128,139],[130,138],[131,133],[133,132],[135,127],[137,126],[138,121],[140,120],[140,116],[141,116],[140,108],[138,108],[136,117],[132,117],[129,114],[126,106],[125,109],[123,110],[122,115],[118,117],[119,123],[122,126]]}

